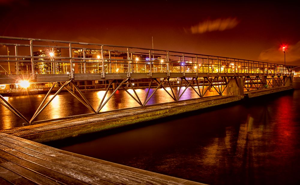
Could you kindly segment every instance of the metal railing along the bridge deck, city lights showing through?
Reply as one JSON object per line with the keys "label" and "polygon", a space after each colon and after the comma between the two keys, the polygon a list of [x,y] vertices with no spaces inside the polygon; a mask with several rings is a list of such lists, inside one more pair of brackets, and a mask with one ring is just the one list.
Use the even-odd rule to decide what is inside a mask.
{"label": "metal railing along the bridge deck, city lights showing through", "polygon": [[[108,73],[202,75],[292,75],[293,66],[246,59],[128,46],[0,36],[1,74]],[[7,67],[9,66],[9,67]]]}

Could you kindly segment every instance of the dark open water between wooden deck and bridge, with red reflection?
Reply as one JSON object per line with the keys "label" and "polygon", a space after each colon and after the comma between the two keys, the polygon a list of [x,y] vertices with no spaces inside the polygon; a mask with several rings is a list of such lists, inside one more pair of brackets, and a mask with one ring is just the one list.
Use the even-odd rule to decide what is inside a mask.
{"label": "dark open water between wooden deck and bridge, with red reflection", "polygon": [[298,184],[300,82],[294,87],[48,144],[206,184]]}

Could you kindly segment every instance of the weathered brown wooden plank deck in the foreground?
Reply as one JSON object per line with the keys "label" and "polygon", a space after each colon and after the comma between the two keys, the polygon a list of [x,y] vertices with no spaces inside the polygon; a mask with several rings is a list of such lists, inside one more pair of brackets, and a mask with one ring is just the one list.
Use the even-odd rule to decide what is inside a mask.
{"label": "weathered brown wooden plank deck in the foreground", "polygon": [[0,184],[201,184],[0,133]]}

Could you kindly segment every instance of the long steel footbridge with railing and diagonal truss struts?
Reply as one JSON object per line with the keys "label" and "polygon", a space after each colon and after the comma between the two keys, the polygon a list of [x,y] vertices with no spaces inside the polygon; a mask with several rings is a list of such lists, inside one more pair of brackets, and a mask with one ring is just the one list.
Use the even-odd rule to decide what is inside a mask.
{"label": "long steel footbridge with railing and diagonal truss struts", "polygon": [[[243,91],[250,91],[285,86],[288,80],[292,82],[293,79],[294,66],[223,56],[5,36],[0,36],[0,42],[7,47],[7,55],[0,55],[0,85],[17,84],[21,80],[31,84],[49,84],[48,93],[30,119],[0,95],[0,103],[29,124],[34,123],[63,89],[92,114],[100,114],[119,89],[124,89],[140,107],[144,107],[158,88],[163,88],[174,101],[179,101],[188,87],[202,98],[210,88],[223,95],[230,82]],[[135,91],[134,81],[137,79],[148,84],[144,100]],[[91,106],[78,87],[79,81],[87,80],[107,82],[98,108]],[[179,87],[177,93],[173,91],[175,86]],[[114,90],[107,97],[112,87]],[[58,90],[49,98],[54,88]],[[151,88],[155,88],[152,93]],[[133,93],[128,89],[132,89]]]}

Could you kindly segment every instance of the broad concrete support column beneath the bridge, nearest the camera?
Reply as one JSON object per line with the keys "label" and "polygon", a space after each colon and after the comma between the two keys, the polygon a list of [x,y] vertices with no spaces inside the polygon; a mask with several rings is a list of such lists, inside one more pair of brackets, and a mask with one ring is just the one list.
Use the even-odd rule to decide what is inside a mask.
{"label": "broad concrete support column beneath the bridge, nearest the camera", "polygon": [[244,97],[244,79],[238,77],[229,79],[226,87],[226,95],[240,95],[241,97]]}

